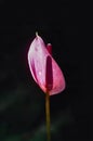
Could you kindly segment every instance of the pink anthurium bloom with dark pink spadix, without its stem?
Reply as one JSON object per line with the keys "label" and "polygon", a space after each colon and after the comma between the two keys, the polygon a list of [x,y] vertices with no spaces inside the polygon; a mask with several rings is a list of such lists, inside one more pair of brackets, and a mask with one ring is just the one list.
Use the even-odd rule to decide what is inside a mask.
{"label": "pink anthurium bloom with dark pink spadix, without its stem", "polygon": [[28,64],[35,81],[45,93],[53,95],[65,89],[65,78],[51,51],[52,46],[45,47],[37,34],[28,51]]}

